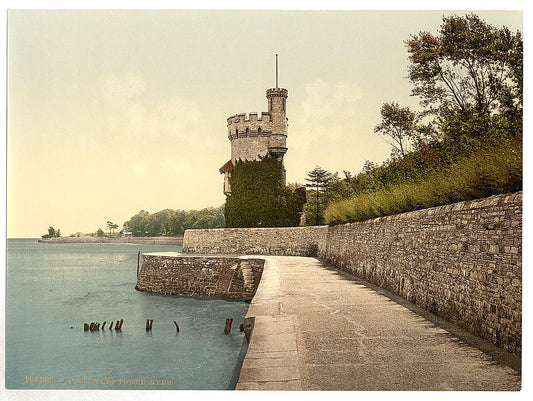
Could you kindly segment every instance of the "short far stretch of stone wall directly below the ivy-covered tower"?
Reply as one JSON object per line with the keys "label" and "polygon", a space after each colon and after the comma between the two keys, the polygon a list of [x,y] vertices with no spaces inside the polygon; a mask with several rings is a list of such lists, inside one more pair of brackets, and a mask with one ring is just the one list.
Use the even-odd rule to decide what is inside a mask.
{"label": "short far stretch of stone wall directly below the ivy-covered tower", "polygon": [[187,230],[184,253],[316,256],[327,226]]}

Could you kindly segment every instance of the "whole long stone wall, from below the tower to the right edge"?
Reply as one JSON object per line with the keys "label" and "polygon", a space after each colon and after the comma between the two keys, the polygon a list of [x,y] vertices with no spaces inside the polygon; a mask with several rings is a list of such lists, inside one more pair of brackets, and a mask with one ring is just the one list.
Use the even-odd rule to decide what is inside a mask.
{"label": "whole long stone wall, from below the tower to the right edge", "polygon": [[521,354],[522,192],[331,227],[187,230],[183,251],[317,256]]}

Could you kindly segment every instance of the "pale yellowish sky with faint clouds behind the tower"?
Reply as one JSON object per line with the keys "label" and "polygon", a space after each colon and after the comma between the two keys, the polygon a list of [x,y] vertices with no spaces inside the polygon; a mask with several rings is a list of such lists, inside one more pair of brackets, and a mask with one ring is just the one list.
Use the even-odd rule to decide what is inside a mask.
{"label": "pale yellowish sky with faint clouds behind the tower", "polygon": [[[418,107],[404,41],[466,11],[10,10],[7,237],[218,207],[227,117],[288,89],[288,182],[357,173],[390,145],[380,107]],[[519,11],[476,11],[522,30]]]}

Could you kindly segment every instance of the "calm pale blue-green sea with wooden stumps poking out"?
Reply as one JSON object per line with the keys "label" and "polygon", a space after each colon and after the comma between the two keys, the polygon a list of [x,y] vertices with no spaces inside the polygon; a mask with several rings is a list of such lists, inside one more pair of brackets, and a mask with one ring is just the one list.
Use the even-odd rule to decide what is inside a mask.
{"label": "calm pale blue-green sea with wooden stumps poking out", "polygon": [[[8,239],[6,387],[233,389],[246,353],[238,327],[248,304],[134,288],[138,251],[176,250]],[[226,318],[234,319],[229,335]],[[122,332],[108,329],[120,319]],[[146,319],[154,320],[149,333]],[[105,330],[83,330],[104,321]]]}

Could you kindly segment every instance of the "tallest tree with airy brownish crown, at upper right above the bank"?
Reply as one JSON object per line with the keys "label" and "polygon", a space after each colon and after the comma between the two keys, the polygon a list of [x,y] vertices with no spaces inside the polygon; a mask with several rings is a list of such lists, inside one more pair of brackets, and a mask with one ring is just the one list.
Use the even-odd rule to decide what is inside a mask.
{"label": "tallest tree with airy brownish crown, at upper right above the bank", "polygon": [[[482,136],[493,128],[504,98],[521,107],[522,37],[475,14],[444,17],[438,35],[407,40],[412,94],[437,117],[445,137]],[[507,102],[509,100],[507,99]]]}

